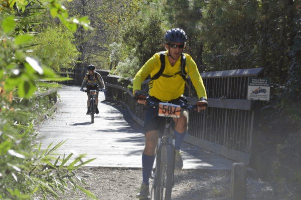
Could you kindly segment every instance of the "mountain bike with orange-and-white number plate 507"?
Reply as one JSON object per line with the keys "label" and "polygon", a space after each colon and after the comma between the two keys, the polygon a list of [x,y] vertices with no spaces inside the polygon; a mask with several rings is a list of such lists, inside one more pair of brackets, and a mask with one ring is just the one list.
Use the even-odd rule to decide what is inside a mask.
{"label": "mountain bike with orange-and-white number plate 507", "polygon": [[[154,181],[151,188],[150,199],[154,193],[155,200],[170,200],[174,185],[175,173],[175,135],[173,117],[180,117],[183,110],[196,109],[196,105],[176,105],[166,102],[147,100],[145,106],[158,107],[159,116],[165,117],[164,132],[159,134],[156,149],[156,166],[154,169]],[[154,191],[154,192],[153,192]]]}

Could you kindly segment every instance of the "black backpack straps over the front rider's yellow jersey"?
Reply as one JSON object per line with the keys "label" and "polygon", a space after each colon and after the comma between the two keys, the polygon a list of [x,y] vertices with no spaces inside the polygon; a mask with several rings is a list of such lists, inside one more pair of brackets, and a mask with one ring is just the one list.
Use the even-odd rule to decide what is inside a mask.
{"label": "black backpack straps over the front rider's yellow jersey", "polygon": [[156,80],[161,75],[164,76],[164,77],[174,77],[175,75],[180,74],[183,77],[183,79],[186,81],[186,76],[187,76],[187,72],[185,70],[186,56],[184,55],[184,53],[181,54],[181,71],[178,71],[174,75],[166,75],[166,74],[163,73],[163,71],[165,69],[165,52],[166,51],[160,51],[159,52],[160,53],[161,68],[153,77],[150,78],[150,80]]}

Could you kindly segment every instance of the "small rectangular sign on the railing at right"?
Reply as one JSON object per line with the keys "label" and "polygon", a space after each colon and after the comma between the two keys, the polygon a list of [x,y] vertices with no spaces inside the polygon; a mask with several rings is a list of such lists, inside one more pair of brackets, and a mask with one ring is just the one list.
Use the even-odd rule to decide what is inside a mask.
{"label": "small rectangular sign on the railing at right", "polygon": [[269,100],[271,78],[249,77],[248,99]]}

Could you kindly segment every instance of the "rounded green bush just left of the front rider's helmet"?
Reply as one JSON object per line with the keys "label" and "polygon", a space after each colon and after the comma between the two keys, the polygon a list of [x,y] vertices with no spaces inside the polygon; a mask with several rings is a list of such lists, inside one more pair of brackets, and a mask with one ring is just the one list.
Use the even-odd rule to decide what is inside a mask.
{"label": "rounded green bush just left of the front rider's helmet", "polygon": [[[115,46],[112,52],[116,51],[116,47],[120,51],[118,57],[110,57],[112,63],[118,61],[112,73],[122,78],[134,77],[147,59],[155,52],[164,50],[164,31],[161,28],[161,22],[160,16],[156,14],[149,18],[140,15],[137,19],[128,21],[121,33],[122,42],[112,45]],[[116,53],[111,53],[111,55],[116,55]]]}

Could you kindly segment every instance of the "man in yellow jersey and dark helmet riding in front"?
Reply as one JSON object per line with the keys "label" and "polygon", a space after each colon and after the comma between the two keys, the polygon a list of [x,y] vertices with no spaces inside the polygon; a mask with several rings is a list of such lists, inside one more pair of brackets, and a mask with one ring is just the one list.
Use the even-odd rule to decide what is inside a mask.
{"label": "man in yellow jersey and dark helmet riding in front", "polygon": [[[161,69],[160,53],[156,53],[153,57],[149,58],[133,79],[133,94],[138,103],[146,104],[146,98],[155,101],[169,101],[181,105],[187,102],[183,96],[185,80],[181,73],[181,57],[187,40],[186,33],[180,28],[173,28],[165,33],[164,40],[164,46],[167,50],[165,52],[165,68],[161,76],[150,80],[148,96],[141,93],[141,83],[148,75],[154,77]],[[199,112],[206,109],[208,104],[206,89],[195,61],[190,55],[186,53],[184,55],[186,57],[185,71],[190,76],[199,97],[199,101],[197,102],[197,110]],[[181,112],[180,118],[176,120],[175,167],[182,169],[183,159],[180,153],[180,145],[187,131],[187,111]],[[145,146],[142,153],[142,183],[136,195],[137,198],[143,199],[150,195],[148,179],[155,161],[158,135],[160,130],[164,128],[162,127],[163,125],[164,120],[162,120],[161,116],[158,116],[158,108],[147,107],[144,119]]]}

